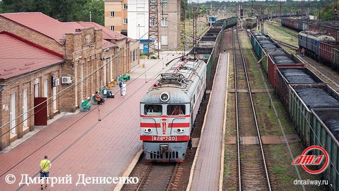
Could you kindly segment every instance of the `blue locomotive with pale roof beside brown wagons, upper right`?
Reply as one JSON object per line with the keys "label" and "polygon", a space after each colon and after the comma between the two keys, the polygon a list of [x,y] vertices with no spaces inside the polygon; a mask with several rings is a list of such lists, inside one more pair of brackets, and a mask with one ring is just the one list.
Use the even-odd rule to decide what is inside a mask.
{"label": "blue locomotive with pale roof beside brown wagons, upper right", "polygon": [[319,60],[319,42],[323,41],[335,42],[336,39],[328,35],[323,35],[314,30],[301,31],[298,35],[299,48],[304,48],[306,54],[317,60]]}

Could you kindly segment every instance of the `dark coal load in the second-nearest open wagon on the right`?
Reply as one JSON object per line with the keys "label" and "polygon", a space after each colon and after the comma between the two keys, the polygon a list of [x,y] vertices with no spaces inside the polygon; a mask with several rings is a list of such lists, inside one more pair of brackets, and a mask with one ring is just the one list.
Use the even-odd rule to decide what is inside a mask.
{"label": "dark coal load in the second-nearest open wagon on the right", "polygon": [[295,92],[308,109],[339,108],[339,101],[322,88],[299,88]]}

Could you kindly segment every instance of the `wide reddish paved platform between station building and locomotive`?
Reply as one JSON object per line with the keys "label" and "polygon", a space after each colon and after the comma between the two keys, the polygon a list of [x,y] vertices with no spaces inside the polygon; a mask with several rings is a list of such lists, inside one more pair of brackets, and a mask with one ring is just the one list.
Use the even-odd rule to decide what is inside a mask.
{"label": "wide reddish paved platform between station building and locomotive", "polygon": [[[165,65],[167,60],[180,56],[174,51],[163,52],[161,60],[141,59],[139,68],[129,73],[126,98],[119,95],[119,86],[112,87],[116,96],[104,105],[92,105],[89,112],[59,114],[57,120],[48,121],[49,125],[26,134],[24,141],[12,143],[0,153],[0,190],[19,189],[22,176],[40,176],[39,165],[45,155],[52,162],[50,176],[72,177],[71,183],[49,184],[45,191],[113,190],[116,184],[100,183],[96,177],[122,176],[140,151],[139,102],[156,81],[154,77],[170,68],[171,64]],[[6,182],[6,177],[14,180],[11,175],[15,176],[12,184]],[[22,191],[40,190],[39,183],[21,186]]]}

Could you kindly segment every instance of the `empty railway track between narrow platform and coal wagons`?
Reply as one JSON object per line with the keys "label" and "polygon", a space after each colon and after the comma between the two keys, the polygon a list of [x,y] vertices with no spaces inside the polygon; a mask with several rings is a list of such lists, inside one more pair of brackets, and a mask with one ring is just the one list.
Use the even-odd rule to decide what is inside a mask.
{"label": "empty railway track between narrow platform and coal wagons", "polygon": [[239,189],[271,191],[238,30],[233,30]]}

